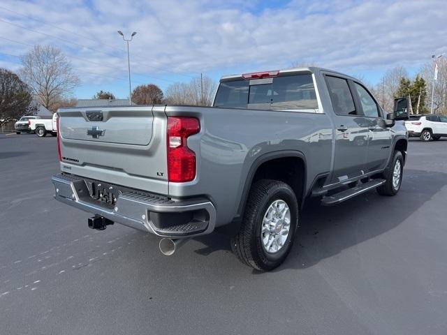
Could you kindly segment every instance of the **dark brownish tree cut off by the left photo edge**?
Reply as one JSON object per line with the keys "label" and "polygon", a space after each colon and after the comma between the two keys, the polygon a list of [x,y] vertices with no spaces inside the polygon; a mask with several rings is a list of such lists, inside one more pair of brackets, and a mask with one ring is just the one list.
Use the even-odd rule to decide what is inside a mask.
{"label": "dark brownish tree cut off by the left photo edge", "polygon": [[29,112],[31,89],[15,74],[0,68],[0,128]]}

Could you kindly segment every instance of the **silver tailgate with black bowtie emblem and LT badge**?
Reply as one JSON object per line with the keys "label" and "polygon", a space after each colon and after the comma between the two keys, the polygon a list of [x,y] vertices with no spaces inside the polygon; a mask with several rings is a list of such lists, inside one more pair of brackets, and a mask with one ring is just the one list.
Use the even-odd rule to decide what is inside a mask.
{"label": "silver tailgate with black bowtie emblem and LT badge", "polygon": [[168,193],[164,106],[59,110],[61,170]]}

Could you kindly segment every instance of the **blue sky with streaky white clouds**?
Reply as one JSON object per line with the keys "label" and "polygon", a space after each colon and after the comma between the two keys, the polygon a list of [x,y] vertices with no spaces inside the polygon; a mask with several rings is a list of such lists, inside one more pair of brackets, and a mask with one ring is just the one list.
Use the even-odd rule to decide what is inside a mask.
{"label": "blue sky with streaky white clouds", "polygon": [[[132,87],[316,64],[376,84],[447,52],[445,0],[35,0],[0,2],[0,67],[33,45],[59,47],[80,77],[73,96],[129,96]],[[447,54],[446,54],[447,57]]]}

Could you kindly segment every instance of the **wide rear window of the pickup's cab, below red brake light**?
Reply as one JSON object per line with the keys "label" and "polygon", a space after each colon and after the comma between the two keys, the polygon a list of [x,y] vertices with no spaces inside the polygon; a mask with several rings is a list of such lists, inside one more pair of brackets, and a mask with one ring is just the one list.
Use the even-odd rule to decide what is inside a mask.
{"label": "wide rear window of the pickup's cab, below red brake light", "polygon": [[262,110],[318,108],[312,75],[288,75],[221,82],[214,107]]}

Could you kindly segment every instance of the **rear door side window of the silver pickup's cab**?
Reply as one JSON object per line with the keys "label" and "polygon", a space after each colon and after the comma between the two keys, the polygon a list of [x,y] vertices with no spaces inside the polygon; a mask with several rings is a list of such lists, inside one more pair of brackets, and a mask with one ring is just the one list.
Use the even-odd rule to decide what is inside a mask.
{"label": "rear door side window of the silver pickup's cab", "polygon": [[357,115],[348,82],[339,77],[326,76],[326,84],[330,95],[330,101],[335,114]]}

